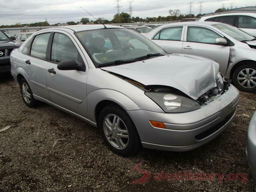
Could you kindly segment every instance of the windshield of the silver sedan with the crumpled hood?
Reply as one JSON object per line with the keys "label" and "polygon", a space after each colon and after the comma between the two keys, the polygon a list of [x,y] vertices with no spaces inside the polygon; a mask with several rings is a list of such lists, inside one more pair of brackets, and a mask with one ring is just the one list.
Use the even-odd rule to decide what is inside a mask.
{"label": "windshield of the silver sedan with the crumpled hood", "polygon": [[96,67],[116,61],[132,61],[166,52],[146,37],[129,29],[98,29],[76,32]]}

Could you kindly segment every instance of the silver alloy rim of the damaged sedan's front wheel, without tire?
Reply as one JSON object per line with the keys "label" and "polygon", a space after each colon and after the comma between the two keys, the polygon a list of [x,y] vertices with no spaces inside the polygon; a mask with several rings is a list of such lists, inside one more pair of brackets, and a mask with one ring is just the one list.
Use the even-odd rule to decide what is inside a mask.
{"label": "silver alloy rim of the damaged sedan's front wheel, without tire", "polygon": [[123,120],[115,114],[108,114],[103,121],[103,130],[108,142],[117,149],[124,149],[129,143],[129,134]]}

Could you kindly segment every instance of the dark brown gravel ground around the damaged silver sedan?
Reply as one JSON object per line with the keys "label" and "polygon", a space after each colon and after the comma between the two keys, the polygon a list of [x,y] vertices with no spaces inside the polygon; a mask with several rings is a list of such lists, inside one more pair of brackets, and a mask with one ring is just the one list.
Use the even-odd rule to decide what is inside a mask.
{"label": "dark brown gravel ground around the damaged silver sedan", "polygon": [[[205,146],[189,152],[143,149],[124,158],[110,151],[98,129],[82,120],[47,104],[26,107],[19,86],[9,75],[1,75],[0,129],[12,127],[0,132],[0,192],[255,192],[251,175],[246,177],[245,155],[248,124],[255,110],[256,94],[241,92],[232,125]],[[65,140],[53,147],[59,138]],[[148,178],[134,184],[143,170]],[[224,174],[224,180],[161,176],[179,172]],[[244,173],[244,179],[233,180],[230,175],[229,180],[229,173]]]}

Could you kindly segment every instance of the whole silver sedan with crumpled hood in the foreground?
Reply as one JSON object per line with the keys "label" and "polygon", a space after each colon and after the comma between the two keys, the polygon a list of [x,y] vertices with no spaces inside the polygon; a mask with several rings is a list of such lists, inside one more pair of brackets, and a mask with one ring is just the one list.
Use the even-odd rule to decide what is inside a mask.
{"label": "whole silver sedan with crumpled hood in the foreground", "polygon": [[141,144],[171,151],[202,146],[232,122],[239,100],[217,62],[167,54],[118,26],[40,30],[12,52],[11,63],[28,107],[39,100],[97,126],[123,156]]}

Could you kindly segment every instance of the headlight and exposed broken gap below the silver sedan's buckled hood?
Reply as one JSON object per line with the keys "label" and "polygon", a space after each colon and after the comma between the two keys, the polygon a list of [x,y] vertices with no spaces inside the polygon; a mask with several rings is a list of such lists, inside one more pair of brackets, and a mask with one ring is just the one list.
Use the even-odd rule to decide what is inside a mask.
{"label": "headlight and exposed broken gap below the silver sedan's buckled hood", "polygon": [[221,73],[218,73],[216,87],[208,90],[197,100],[194,100],[180,90],[170,86],[146,86],[140,82],[121,76],[119,74],[114,74],[112,72],[110,73],[142,89],[145,92],[145,95],[152,99],[156,104],[158,104],[158,106],[160,106],[160,108],[162,108],[162,110],[166,113],[183,113],[199,109],[220,97],[222,94],[224,94],[224,92],[226,92],[226,90],[228,90],[228,87],[230,86],[230,80],[224,80],[224,76]]}

